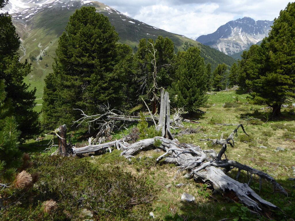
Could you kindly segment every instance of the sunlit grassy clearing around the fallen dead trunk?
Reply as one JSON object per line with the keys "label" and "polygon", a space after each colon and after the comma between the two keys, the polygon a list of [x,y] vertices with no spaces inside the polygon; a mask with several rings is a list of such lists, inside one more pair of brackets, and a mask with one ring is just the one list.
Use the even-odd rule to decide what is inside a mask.
{"label": "sunlit grassy clearing around the fallen dead trunk", "polygon": [[[283,212],[277,214],[276,220],[287,220],[295,217],[295,183],[288,180],[289,177],[295,177],[292,166],[295,166],[295,117],[291,108],[283,108],[283,117],[276,120],[266,120],[271,109],[260,110],[259,105],[247,104],[247,94],[241,91],[219,92],[216,95],[209,95],[208,105],[202,110],[206,114],[200,116],[199,124],[185,123],[184,127],[201,127],[200,133],[178,135],[176,138],[180,142],[200,145],[202,149],[220,150],[220,146],[212,145],[210,142],[199,141],[200,138],[220,138],[222,133],[228,136],[235,126],[215,125],[214,123],[243,123],[245,131],[250,135],[245,136],[242,131],[238,131],[235,138],[235,147],[228,147],[226,155],[228,159],[239,161],[255,169],[264,171],[286,188],[288,197],[279,193],[273,193],[272,185],[262,182],[262,191],[259,193],[258,177],[253,177],[250,186],[261,196],[273,204],[281,207]],[[233,98],[235,97],[235,98]],[[237,99],[238,97],[238,99]],[[224,107],[223,104],[236,102],[237,107]],[[256,119],[253,119],[256,118]],[[135,125],[130,126],[130,128]],[[129,129],[130,129],[129,128]],[[113,139],[121,138],[127,134],[127,130],[120,133],[114,133]],[[81,142],[83,132],[74,133],[73,142]],[[70,134],[69,134],[70,136]],[[44,147],[32,147],[32,141],[29,141],[23,149],[34,152],[42,151]],[[265,148],[266,147],[266,148]],[[277,147],[285,148],[284,151],[277,151]],[[165,164],[160,161],[155,163],[155,159],[160,156],[153,150],[142,151],[131,161],[120,157],[120,151],[114,150],[112,153],[95,155],[93,157],[84,156],[84,159],[98,165],[100,168],[111,168],[114,165],[119,166],[124,172],[130,172],[132,176],[138,179],[146,179],[148,185],[153,186],[153,201],[149,206],[149,211],[155,215],[155,220],[220,220],[222,218],[241,217],[244,214],[247,220],[268,220],[264,217],[255,217],[249,212],[242,210],[241,205],[230,202],[226,197],[219,194],[212,195],[212,191],[203,184],[195,182],[193,179],[183,178],[183,174],[176,174],[176,165]],[[231,176],[235,177],[237,171],[232,171]],[[241,182],[248,182],[248,174],[241,173]],[[41,181],[40,181],[41,182]],[[176,184],[183,183],[183,187],[176,187]],[[196,197],[194,203],[181,202],[180,198],[183,192],[192,194]],[[139,212],[139,214],[141,214]],[[150,220],[145,210],[142,213],[141,220]],[[77,219],[79,220],[79,219]],[[132,219],[131,219],[132,220]],[[136,220],[136,219],[134,219]]]}

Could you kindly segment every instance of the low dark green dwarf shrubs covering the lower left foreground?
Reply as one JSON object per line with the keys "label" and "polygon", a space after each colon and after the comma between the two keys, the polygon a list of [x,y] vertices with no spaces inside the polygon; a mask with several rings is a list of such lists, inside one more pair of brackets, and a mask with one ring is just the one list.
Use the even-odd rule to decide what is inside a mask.
{"label": "low dark green dwarf shrubs covering the lower left foreground", "polygon": [[[73,157],[36,156],[29,172],[40,173],[39,182],[26,192],[21,204],[14,204],[0,215],[1,220],[84,220],[87,217],[81,217],[83,209],[90,210],[94,220],[148,217],[152,186],[119,167],[101,168]],[[47,214],[42,203],[50,199],[57,206]]]}

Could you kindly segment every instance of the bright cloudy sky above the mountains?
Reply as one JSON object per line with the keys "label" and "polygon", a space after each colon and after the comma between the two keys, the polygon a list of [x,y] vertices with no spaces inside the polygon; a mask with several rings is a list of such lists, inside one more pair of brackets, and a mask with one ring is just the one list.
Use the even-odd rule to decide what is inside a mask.
{"label": "bright cloudy sky above the mountains", "polygon": [[237,18],[273,20],[290,0],[99,0],[168,32],[199,37]]}

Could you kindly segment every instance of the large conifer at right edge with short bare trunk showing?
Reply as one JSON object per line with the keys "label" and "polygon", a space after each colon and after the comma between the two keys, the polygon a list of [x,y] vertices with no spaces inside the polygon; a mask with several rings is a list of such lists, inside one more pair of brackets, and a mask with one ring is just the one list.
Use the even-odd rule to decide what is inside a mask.
{"label": "large conifer at right edge with short bare trunk showing", "polygon": [[281,115],[281,105],[295,98],[295,3],[289,3],[274,20],[268,37],[258,48],[246,81],[256,103],[273,107],[272,116]]}

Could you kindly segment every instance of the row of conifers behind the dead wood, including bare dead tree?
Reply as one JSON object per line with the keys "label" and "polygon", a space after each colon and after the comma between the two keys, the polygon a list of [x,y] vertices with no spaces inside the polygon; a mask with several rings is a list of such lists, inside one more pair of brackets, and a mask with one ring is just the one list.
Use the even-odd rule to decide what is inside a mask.
{"label": "row of conifers behind the dead wood, including bare dead tree", "polygon": [[[160,88],[173,95],[175,106],[189,113],[206,103],[210,65],[197,47],[175,53],[171,39],[141,39],[135,54],[119,39],[108,18],[94,7],[82,7],[69,19],[59,39],[53,73],[45,83],[42,125],[72,125],[81,114],[101,113],[100,105],[129,110],[158,100]],[[177,97],[177,98],[176,98]],[[76,110],[80,109],[80,110]]]}

